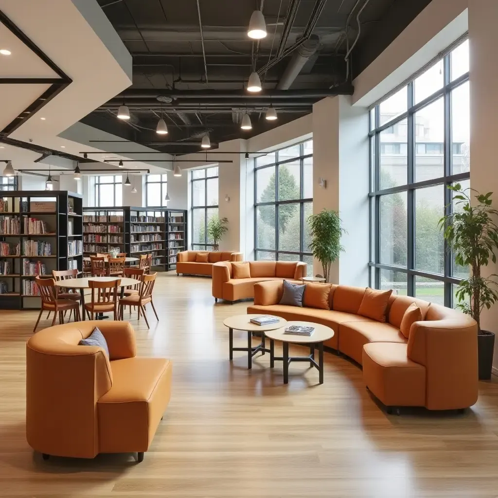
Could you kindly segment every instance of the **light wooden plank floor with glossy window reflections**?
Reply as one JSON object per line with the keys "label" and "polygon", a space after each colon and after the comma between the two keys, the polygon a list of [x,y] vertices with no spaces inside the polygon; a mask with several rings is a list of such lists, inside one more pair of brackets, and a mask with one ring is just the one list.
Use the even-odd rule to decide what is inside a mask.
{"label": "light wooden plank floor with glossy window reflections", "polygon": [[[161,274],[160,322],[136,315],[138,352],[171,358],[173,394],[150,451],[44,462],[25,440],[25,341],[36,312],[0,312],[1,497],[403,498],[498,496],[498,382],[465,415],[386,415],[360,369],[326,354],[325,383],[306,364],[247,370],[228,360],[227,316],[211,280]],[[126,314],[125,314],[126,318]],[[48,322],[42,322],[48,326]],[[246,334],[234,343],[245,345]]]}

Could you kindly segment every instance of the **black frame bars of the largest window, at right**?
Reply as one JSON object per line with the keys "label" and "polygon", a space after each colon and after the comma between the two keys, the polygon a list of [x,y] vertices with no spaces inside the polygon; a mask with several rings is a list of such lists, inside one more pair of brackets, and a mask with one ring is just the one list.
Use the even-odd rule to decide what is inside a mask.
{"label": "black frame bars of the largest window, at right", "polygon": [[[453,254],[448,250],[446,241],[444,243],[444,273],[431,273],[415,269],[415,192],[423,187],[432,187],[443,185],[444,188],[444,213],[450,214],[452,210],[452,192],[447,188],[448,185],[470,181],[470,171],[464,173],[452,173],[453,161],[453,144],[452,144],[452,92],[456,88],[466,84],[469,81],[469,73],[465,73],[455,80],[451,81],[451,56],[452,51],[464,43],[468,35],[460,38],[452,44],[442,55],[439,60],[443,60],[443,86],[437,92],[433,93],[418,104],[414,102],[414,81],[419,74],[410,79],[407,84],[407,111],[396,116],[394,119],[379,125],[380,112],[379,105],[385,101],[394,92],[391,92],[386,98],[382,99],[369,112],[369,162],[370,162],[370,192],[369,192],[369,209],[370,209],[370,261],[369,261],[369,285],[380,288],[380,270],[390,270],[405,273],[407,275],[407,295],[415,296],[415,279],[417,276],[430,278],[444,283],[444,305],[453,307],[453,285],[458,285],[461,278],[452,275]],[[438,60],[432,61],[436,64]],[[400,87],[401,88],[401,87]],[[424,181],[415,181],[415,113],[421,109],[436,102],[440,98],[444,99],[444,168],[443,176]],[[374,112],[373,112],[374,111]],[[380,132],[395,126],[399,122],[407,120],[407,182],[404,185],[379,189],[380,177]],[[374,122],[373,122],[374,121]],[[422,143],[422,142],[421,142]],[[372,145],[374,150],[372,151]],[[433,154],[433,153],[432,153]],[[380,262],[380,198],[386,194],[406,193],[407,195],[407,266],[397,266]]]}

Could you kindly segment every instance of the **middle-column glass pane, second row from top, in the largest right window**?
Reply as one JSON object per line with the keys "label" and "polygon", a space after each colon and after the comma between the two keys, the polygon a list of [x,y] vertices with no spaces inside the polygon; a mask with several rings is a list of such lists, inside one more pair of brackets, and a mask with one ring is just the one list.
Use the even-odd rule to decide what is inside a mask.
{"label": "middle-column glass pane, second row from top, in the largest right window", "polygon": [[415,113],[415,181],[444,176],[444,101]]}

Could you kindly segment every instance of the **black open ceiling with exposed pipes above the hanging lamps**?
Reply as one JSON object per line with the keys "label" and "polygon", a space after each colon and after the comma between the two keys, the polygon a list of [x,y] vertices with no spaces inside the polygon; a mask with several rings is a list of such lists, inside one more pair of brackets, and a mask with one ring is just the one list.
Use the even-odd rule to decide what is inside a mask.
{"label": "black open ceiling with exposed pipes above the hanging lamps", "polygon": [[[248,37],[247,29],[261,0],[98,1],[133,56],[133,85],[83,121],[158,150],[181,153],[197,150],[197,145],[188,142],[199,143],[207,131],[212,142],[247,138],[310,113],[312,104],[326,95],[351,93],[351,79],[430,0],[263,0],[268,35],[259,43]],[[323,7],[312,31],[319,37],[319,48],[297,77],[287,80],[288,89],[278,90],[293,53],[278,59],[266,72],[261,69],[276,56],[292,7],[297,13],[281,50],[303,35],[314,9]],[[351,46],[362,7],[361,34],[346,78],[346,38]],[[263,91],[256,96],[244,89],[254,67],[263,83]],[[160,95],[171,97],[171,103],[158,102]],[[116,119],[123,98],[130,109],[128,123]],[[264,119],[270,104],[278,112],[274,122]],[[253,126],[249,132],[239,124],[246,111]],[[161,114],[169,129],[166,138],[155,133]],[[169,143],[161,146],[160,142]]]}

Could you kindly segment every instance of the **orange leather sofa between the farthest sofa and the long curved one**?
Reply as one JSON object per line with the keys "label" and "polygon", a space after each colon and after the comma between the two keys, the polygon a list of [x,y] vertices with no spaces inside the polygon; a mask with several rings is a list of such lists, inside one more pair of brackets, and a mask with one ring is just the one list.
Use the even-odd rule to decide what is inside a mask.
{"label": "orange leather sofa between the farthest sofa and the long curved one", "polygon": [[249,261],[249,278],[234,278],[232,263],[219,262],[213,265],[213,297],[215,301],[237,301],[254,297],[254,284],[267,280],[299,280],[306,276],[306,263],[302,261]]}

